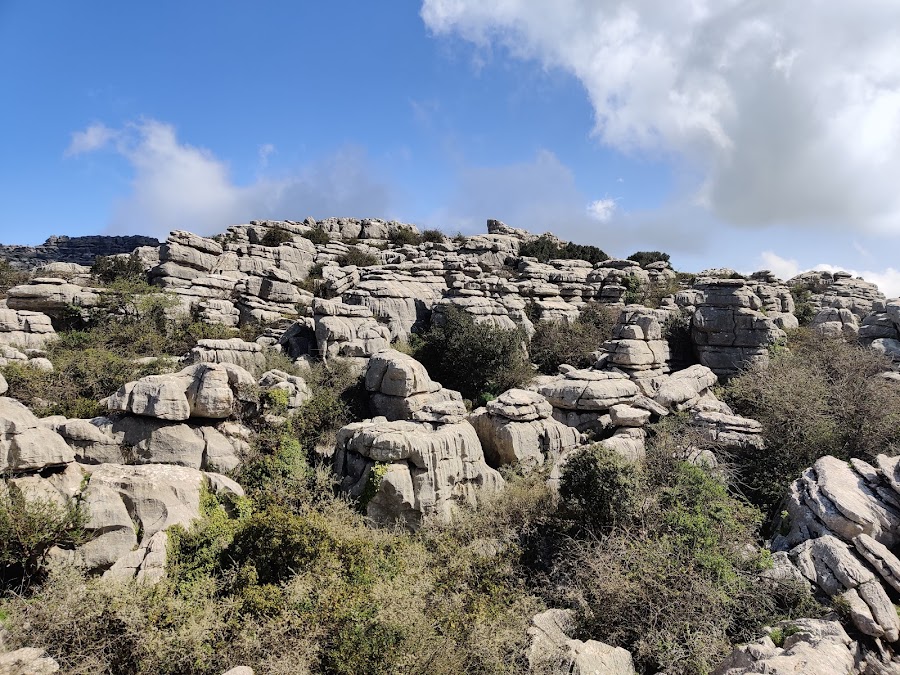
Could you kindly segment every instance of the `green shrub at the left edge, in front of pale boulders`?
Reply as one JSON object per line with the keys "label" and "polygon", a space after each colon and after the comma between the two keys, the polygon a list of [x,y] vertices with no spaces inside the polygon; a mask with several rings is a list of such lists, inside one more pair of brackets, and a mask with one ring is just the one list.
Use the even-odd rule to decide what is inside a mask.
{"label": "green shrub at the left edge, in front of pale boulders", "polygon": [[0,589],[22,590],[38,581],[51,548],[85,541],[85,521],[77,501],[60,503],[0,483]]}

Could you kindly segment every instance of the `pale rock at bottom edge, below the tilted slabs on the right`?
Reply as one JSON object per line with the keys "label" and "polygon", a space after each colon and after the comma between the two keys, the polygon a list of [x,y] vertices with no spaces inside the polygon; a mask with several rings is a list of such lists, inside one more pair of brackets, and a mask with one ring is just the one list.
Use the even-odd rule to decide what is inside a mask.
{"label": "pale rock at bottom edge, below the tilted slabs on the right", "polygon": [[847,675],[865,670],[862,652],[837,621],[797,619],[776,627],[791,634],[781,647],[768,636],[736,647],[713,675]]}

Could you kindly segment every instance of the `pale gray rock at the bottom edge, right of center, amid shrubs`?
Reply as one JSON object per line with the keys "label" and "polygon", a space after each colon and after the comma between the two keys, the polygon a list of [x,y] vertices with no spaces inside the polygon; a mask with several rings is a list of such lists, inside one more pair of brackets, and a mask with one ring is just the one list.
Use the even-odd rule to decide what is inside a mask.
{"label": "pale gray rock at the bottom edge, right of center, amid shrubs", "polygon": [[533,675],[634,675],[631,654],[596,640],[574,640],[572,610],[548,609],[531,619],[529,673]]}

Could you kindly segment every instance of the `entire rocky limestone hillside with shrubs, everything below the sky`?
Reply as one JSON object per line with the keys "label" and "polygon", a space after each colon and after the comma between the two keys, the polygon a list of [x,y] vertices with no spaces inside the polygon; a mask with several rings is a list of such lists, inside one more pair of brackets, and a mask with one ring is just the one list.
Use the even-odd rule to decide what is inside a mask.
{"label": "entire rocky limestone hillside with shrubs, everything below the sky", "polygon": [[0,673],[900,672],[874,284],[496,220],[30,250],[0,301],[0,581],[26,589]]}

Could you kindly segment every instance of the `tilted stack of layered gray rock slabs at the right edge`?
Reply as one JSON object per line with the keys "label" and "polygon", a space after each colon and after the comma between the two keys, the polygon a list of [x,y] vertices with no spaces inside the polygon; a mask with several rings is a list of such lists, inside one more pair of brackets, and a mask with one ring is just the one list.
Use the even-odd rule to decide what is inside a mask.
{"label": "tilted stack of layered gray rock slabs at the right edge", "polygon": [[877,467],[822,457],[791,485],[787,521],[772,547],[789,552],[811,582],[848,607],[866,635],[894,642],[900,622],[889,599],[900,560],[900,460],[879,455]]}

